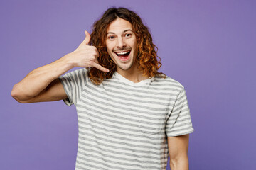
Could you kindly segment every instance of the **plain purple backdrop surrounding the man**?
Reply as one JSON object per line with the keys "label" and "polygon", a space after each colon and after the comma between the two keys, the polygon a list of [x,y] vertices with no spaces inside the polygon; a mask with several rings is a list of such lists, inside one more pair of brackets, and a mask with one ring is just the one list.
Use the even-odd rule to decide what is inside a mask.
{"label": "plain purple backdrop surrounding the man", "polygon": [[1,1],[0,169],[74,169],[75,107],[21,104],[10,93],[31,70],[75,50],[110,6],[142,17],[161,72],[186,88],[190,169],[255,169],[255,2]]}

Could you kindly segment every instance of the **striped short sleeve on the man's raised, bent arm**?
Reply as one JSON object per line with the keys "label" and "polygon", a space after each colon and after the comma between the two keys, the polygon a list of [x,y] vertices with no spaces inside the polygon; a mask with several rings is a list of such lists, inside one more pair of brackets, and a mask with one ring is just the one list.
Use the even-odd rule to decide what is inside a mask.
{"label": "striped short sleeve on the man's raised, bent arm", "polygon": [[59,77],[59,79],[68,96],[63,100],[65,104],[68,106],[76,104],[82,95],[82,89],[87,84],[87,70],[85,68],[77,69]]}

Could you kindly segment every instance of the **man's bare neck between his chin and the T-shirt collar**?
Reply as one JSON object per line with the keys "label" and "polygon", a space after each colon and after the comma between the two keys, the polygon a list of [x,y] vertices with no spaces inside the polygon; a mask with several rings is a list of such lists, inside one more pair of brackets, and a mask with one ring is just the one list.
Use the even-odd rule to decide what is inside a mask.
{"label": "man's bare neck between his chin and the T-shirt collar", "polygon": [[147,77],[144,77],[142,75],[142,72],[139,72],[137,64],[136,67],[133,67],[134,69],[128,69],[128,70],[122,70],[117,68],[117,72],[121,74],[126,79],[129,79],[130,81],[133,81],[134,83],[139,83],[139,81],[142,81],[144,79],[148,79]]}

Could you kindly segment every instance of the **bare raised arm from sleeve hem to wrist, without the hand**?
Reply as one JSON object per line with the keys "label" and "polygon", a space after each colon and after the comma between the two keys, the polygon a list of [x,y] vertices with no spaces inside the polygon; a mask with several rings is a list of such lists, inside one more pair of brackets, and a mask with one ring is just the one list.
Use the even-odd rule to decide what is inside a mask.
{"label": "bare raised arm from sleeve hem to wrist, without the hand", "polygon": [[58,101],[67,98],[58,77],[72,68],[68,63],[68,57],[39,67],[30,72],[11,91],[16,101],[21,103],[32,103],[40,101]]}

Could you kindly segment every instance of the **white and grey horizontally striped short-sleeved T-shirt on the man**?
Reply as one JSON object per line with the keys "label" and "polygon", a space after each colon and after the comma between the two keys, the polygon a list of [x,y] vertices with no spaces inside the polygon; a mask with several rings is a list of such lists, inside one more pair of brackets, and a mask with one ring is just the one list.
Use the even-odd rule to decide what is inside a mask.
{"label": "white and grey horizontally striped short-sleeved T-shirt on the man", "polygon": [[75,169],[166,169],[167,137],[193,132],[186,92],[170,77],[134,83],[117,72],[95,85],[86,69],[60,77],[78,111]]}

